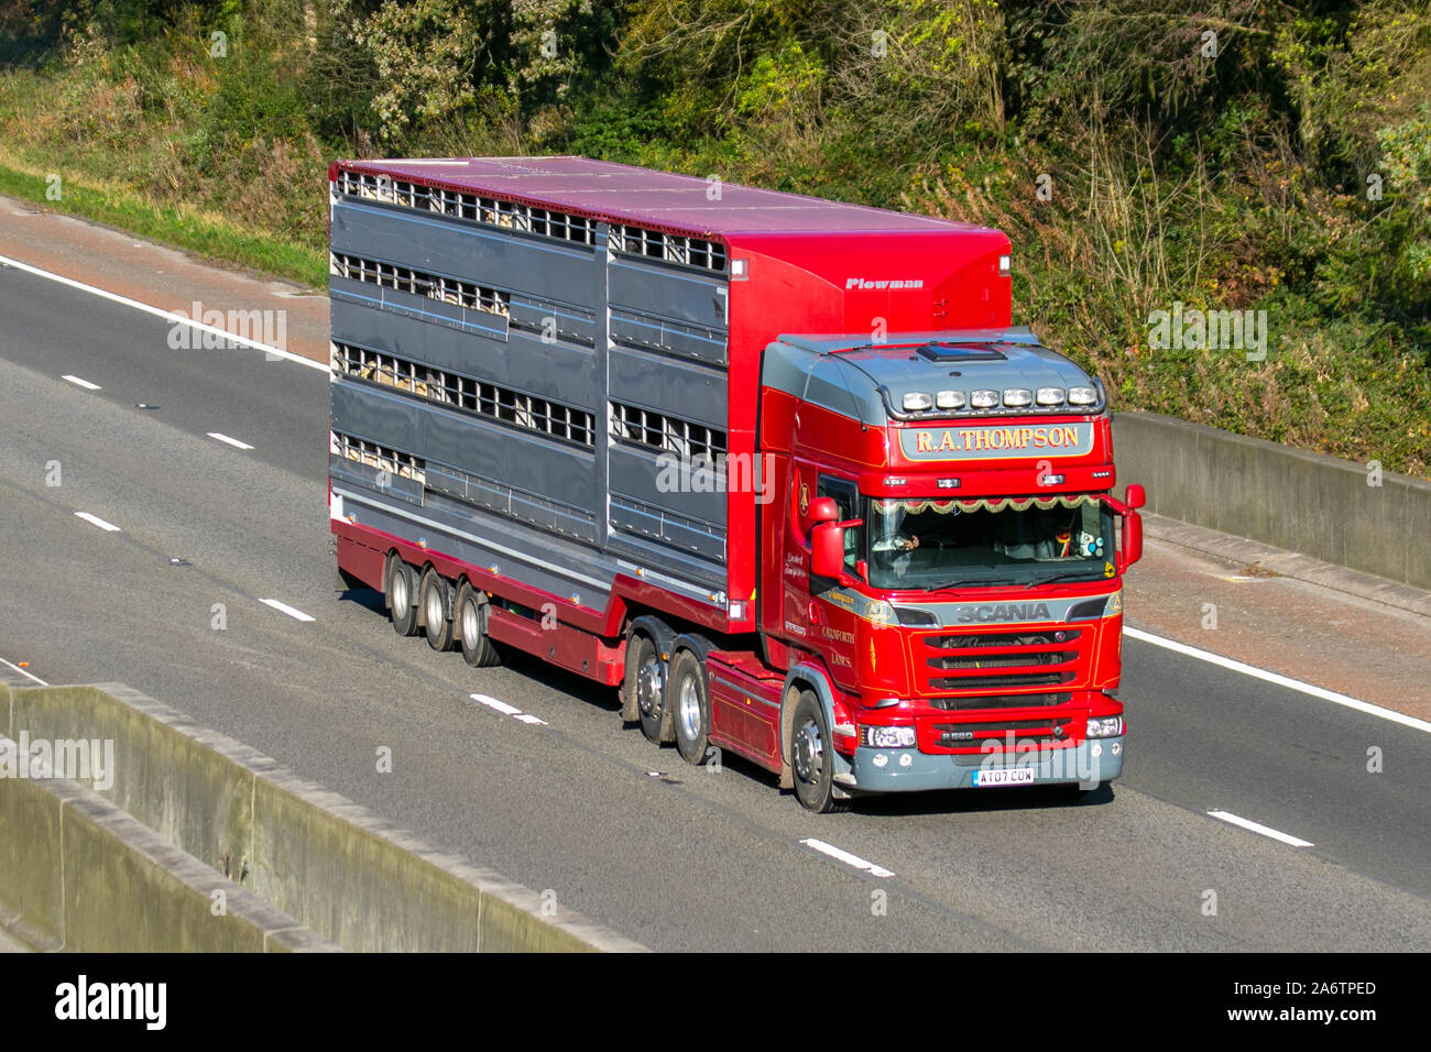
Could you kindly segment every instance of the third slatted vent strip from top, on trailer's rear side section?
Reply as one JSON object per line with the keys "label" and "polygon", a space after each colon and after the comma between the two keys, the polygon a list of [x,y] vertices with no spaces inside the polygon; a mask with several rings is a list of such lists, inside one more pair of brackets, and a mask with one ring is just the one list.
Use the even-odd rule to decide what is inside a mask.
{"label": "third slatted vent strip from top, on trailer's rear side section", "polygon": [[595,449],[595,415],[512,388],[444,372],[352,344],[329,344],[333,372],[396,388],[451,409]]}

